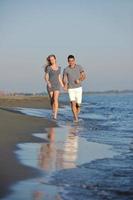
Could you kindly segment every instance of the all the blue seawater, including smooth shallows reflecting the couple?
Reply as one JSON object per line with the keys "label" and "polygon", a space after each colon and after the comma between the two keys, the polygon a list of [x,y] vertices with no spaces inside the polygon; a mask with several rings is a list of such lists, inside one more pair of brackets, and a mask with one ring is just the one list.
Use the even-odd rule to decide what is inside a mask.
{"label": "all the blue seawater, including smooth shallows reflecting the couple", "polygon": [[[42,177],[13,186],[6,199],[132,200],[133,94],[84,95],[78,124],[72,122],[68,96],[60,101],[59,127],[35,134],[48,142],[18,144],[16,152],[22,164],[42,170]],[[15,109],[51,115],[50,110]]]}

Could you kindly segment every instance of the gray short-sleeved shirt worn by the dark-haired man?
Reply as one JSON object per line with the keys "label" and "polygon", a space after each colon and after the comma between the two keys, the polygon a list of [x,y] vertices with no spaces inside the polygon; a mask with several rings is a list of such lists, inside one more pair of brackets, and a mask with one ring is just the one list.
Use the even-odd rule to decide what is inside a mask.
{"label": "gray short-sleeved shirt worn by the dark-haired man", "polygon": [[78,88],[81,87],[80,83],[75,83],[77,79],[80,78],[80,73],[83,72],[83,67],[81,65],[75,65],[75,67],[71,68],[67,66],[64,69],[63,76],[67,76],[68,79],[68,88]]}

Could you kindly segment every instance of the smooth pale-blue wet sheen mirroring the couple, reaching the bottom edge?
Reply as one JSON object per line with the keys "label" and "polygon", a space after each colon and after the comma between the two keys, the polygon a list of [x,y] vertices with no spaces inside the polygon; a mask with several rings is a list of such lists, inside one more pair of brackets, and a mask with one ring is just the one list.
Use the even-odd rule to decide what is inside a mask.
{"label": "smooth pale-blue wet sheen mirroring the couple, reaching the bottom edge", "polygon": [[[53,176],[55,176],[55,180],[58,179],[56,173],[58,174],[63,170],[71,171],[72,169],[77,171],[78,166],[84,163],[106,157],[112,158],[115,155],[111,150],[111,146],[88,142],[79,134],[80,129],[78,126],[66,123],[65,126],[47,128],[47,134],[34,134],[37,138],[42,138],[47,142],[18,144],[20,149],[16,151],[16,155],[20,163],[35,167],[43,173],[41,177],[19,181],[13,185],[12,190],[14,192],[3,200],[64,199],[61,197],[63,184],[60,184],[58,180],[53,180]],[[71,179],[72,176],[72,174],[68,174],[68,178]],[[80,178],[82,180],[82,176]],[[69,184],[71,184],[71,181]],[[21,198],[19,198],[20,192]]]}

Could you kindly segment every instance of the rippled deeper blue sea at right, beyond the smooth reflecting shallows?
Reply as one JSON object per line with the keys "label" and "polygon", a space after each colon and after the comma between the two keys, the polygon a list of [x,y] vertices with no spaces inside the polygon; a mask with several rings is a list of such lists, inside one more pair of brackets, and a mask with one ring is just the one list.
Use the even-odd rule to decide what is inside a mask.
{"label": "rippled deeper blue sea at right, beyond the smooth reflecting shallows", "polygon": [[55,181],[71,180],[64,199],[133,199],[133,94],[86,95],[80,117],[80,136],[118,155],[57,173]]}

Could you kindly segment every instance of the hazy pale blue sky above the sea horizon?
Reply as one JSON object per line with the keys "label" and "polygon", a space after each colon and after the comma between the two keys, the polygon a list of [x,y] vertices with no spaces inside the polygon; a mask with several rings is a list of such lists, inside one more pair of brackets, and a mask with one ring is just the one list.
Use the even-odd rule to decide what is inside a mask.
{"label": "hazy pale blue sky above the sea horizon", "polygon": [[85,90],[133,89],[133,0],[0,0],[0,90],[45,90],[42,65],[74,54]]}

